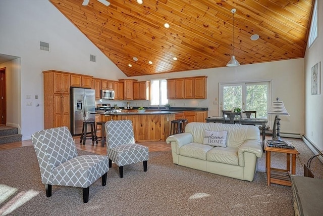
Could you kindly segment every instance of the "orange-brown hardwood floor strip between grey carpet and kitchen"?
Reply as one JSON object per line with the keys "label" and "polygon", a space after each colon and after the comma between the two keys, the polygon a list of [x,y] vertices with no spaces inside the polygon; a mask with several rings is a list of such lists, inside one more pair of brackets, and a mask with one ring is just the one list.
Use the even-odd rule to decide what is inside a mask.
{"label": "orange-brown hardwood floor strip between grey carpet and kitchen", "polygon": [[[91,140],[86,140],[85,145],[80,144],[80,137],[73,137],[75,140],[75,145],[77,149],[87,151],[87,152],[92,152],[95,154],[100,154],[100,155],[106,155],[106,146],[101,147],[101,142],[99,141],[98,144],[94,144],[92,146],[92,141]],[[149,152],[154,152],[154,151],[171,151],[171,145],[167,144],[164,141],[159,141],[159,142],[141,142],[138,143],[143,146],[147,146],[149,148]],[[0,150],[6,150],[6,149],[14,149],[14,148],[19,148],[23,146],[32,146],[31,140],[26,140],[26,141],[21,141],[21,142],[15,142],[15,143],[6,143],[6,144],[0,144]]]}

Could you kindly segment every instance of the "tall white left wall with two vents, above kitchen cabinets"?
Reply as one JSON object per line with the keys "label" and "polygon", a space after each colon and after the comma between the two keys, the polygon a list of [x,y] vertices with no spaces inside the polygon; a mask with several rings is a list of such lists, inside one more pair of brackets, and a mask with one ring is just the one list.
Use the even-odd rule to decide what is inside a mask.
{"label": "tall white left wall with two vents, above kitchen cabinets", "polygon": [[[18,83],[12,87],[7,84],[12,88],[9,92],[19,92],[8,98],[7,118],[9,124],[21,128],[23,140],[44,128],[42,71],[53,69],[99,78],[126,78],[48,1],[0,1],[0,38],[0,54],[21,57],[21,63],[13,61],[5,65],[8,65],[8,75],[16,74],[14,68],[21,67],[21,82],[17,79]],[[39,49],[40,40],[49,42],[50,52]],[[96,56],[96,63],[89,61],[90,54]],[[26,99],[26,95],[31,95],[31,99]],[[26,106],[27,102],[32,102],[32,106]],[[12,109],[18,109],[19,115],[11,113]],[[17,116],[22,116],[21,120],[15,119]]]}

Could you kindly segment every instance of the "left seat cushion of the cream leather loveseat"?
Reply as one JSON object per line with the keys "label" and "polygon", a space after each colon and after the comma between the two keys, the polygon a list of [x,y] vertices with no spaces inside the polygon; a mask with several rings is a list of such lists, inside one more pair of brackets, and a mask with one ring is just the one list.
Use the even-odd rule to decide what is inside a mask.
{"label": "left seat cushion of the cream leather loveseat", "polygon": [[206,160],[206,152],[214,148],[213,146],[201,143],[190,143],[180,148],[180,154],[186,157],[193,157],[200,160]]}

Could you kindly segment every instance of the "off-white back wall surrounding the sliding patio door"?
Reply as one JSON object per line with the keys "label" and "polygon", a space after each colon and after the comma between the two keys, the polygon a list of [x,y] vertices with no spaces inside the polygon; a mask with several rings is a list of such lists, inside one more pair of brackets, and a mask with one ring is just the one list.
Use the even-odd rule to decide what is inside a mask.
{"label": "off-white back wall surrounding the sliding patio door", "polygon": [[[170,100],[170,103],[175,107],[208,107],[208,116],[219,116],[219,105],[213,105],[213,101],[216,98],[219,100],[220,82],[272,80],[272,101],[275,101],[275,98],[279,97],[280,101],[284,102],[285,108],[290,114],[290,116],[280,116],[282,119],[281,133],[302,135],[304,134],[305,118],[303,62],[304,59],[293,59],[240,65],[238,67],[183,71],[132,78],[142,81],[153,78],[206,75],[208,77],[206,100]],[[149,102],[143,103],[147,106]],[[270,117],[271,121],[268,123],[271,128],[273,128],[274,117]]]}

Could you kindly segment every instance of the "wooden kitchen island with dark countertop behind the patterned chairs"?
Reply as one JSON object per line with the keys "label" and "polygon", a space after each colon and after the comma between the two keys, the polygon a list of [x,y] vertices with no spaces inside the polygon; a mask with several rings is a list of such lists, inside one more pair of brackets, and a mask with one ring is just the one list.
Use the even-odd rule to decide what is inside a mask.
{"label": "wooden kitchen island with dark countertop behind the patterned chairs", "polygon": [[96,111],[101,121],[131,120],[134,127],[136,142],[165,141],[170,135],[171,120],[179,111],[153,111],[146,110],[138,113],[137,110],[122,110],[119,112]]}

